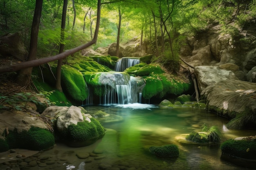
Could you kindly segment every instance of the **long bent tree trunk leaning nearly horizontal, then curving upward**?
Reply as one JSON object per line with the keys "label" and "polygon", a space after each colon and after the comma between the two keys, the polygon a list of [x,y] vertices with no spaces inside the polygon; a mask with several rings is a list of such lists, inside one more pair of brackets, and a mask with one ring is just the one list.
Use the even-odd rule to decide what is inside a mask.
{"label": "long bent tree trunk leaning nearly horizontal, then curving upward", "polygon": [[[37,0],[37,1],[42,1],[42,0]],[[100,25],[100,18],[101,18],[101,0],[98,0],[98,7],[97,8],[98,8],[97,22],[96,22],[95,33],[94,33],[94,37],[93,37],[92,41],[90,41],[86,44],[83,44],[81,46],[77,46],[74,49],[66,50],[63,53],[60,53],[60,54],[57,54],[57,55],[54,55],[54,56],[40,58],[40,59],[31,60],[31,61],[27,61],[27,62],[21,62],[19,64],[15,64],[15,65],[1,66],[0,67],[0,73],[19,71],[23,68],[39,66],[39,65],[45,64],[47,62],[53,62],[55,60],[60,60],[60,59],[63,59],[65,57],[67,57],[68,55],[71,55],[71,54],[74,54],[78,51],[81,51],[82,49],[85,49],[85,48],[91,46],[92,44],[95,44],[97,42],[98,33],[99,33],[99,25]]]}

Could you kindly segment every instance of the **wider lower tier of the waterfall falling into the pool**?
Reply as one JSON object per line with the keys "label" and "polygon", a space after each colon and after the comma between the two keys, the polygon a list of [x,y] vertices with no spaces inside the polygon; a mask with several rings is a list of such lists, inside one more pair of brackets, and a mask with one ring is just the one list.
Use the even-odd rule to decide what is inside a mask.
{"label": "wider lower tier of the waterfall falling into the pool", "polygon": [[[99,98],[99,104],[132,104],[138,102],[138,93],[145,86],[142,77],[132,77],[124,72],[99,72],[92,75],[92,81],[97,80],[104,87],[104,94]],[[93,104],[93,90],[89,87],[89,97],[86,104]]]}

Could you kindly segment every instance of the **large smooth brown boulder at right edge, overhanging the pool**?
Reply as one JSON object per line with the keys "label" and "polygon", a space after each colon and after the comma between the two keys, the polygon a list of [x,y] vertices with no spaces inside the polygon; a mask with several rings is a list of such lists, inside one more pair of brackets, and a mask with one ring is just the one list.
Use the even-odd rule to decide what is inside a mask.
{"label": "large smooth brown boulder at right edge, overhanging the pool", "polygon": [[225,80],[208,86],[201,94],[209,111],[232,119],[228,128],[256,124],[256,83]]}

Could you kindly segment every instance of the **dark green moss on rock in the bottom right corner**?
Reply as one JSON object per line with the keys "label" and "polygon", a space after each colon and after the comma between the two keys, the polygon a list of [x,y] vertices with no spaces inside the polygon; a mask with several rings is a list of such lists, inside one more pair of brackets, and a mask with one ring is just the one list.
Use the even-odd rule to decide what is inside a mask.
{"label": "dark green moss on rock in the bottom right corner", "polygon": [[[256,159],[256,141],[229,139],[220,146],[223,153],[245,159]],[[249,149],[248,149],[249,148]]]}

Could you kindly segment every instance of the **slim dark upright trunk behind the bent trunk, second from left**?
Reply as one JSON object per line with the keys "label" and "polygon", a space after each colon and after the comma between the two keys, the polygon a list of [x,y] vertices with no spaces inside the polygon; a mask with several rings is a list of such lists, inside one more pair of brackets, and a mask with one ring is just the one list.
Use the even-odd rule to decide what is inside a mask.
{"label": "slim dark upright trunk behind the bent trunk, second from left", "polygon": [[[61,45],[60,45],[59,53],[63,53],[64,47],[65,47],[64,41],[65,41],[66,14],[67,14],[67,0],[64,0],[63,1],[62,19],[61,19]],[[56,88],[60,92],[62,92],[62,88],[61,88],[62,60],[63,59],[58,60],[57,73],[56,73]]]}

